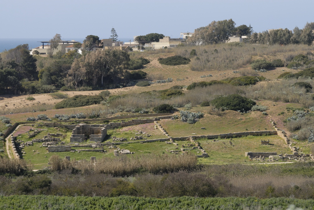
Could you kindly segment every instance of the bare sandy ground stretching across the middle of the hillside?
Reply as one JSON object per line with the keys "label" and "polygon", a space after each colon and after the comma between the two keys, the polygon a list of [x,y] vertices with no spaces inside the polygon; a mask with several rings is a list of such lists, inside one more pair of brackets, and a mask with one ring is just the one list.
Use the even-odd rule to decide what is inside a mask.
{"label": "bare sandy ground stretching across the middle of the hillside", "polygon": [[[147,72],[150,77],[153,79],[166,79],[168,77],[173,78],[173,82],[171,83],[156,83],[152,84],[148,87],[125,87],[125,88],[117,88],[117,89],[109,89],[112,95],[126,94],[126,93],[138,93],[142,91],[151,91],[151,90],[161,90],[167,89],[174,85],[189,85],[192,82],[200,82],[200,81],[210,81],[210,80],[221,80],[230,77],[239,77],[240,73],[233,73],[234,70],[220,70],[220,71],[203,71],[203,72],[195,72],[191,71],[187,65],[179,65],[179,66],[167,66],[161,65],[157,58],[153,58],[149,64],[146,65],[143,71]],[[250,66],[237,69],[239,72],[252,72]],[[297,70],[287,69],[285,67],[275,68],[273,70],[267,71],[265,73],[259,73],[259,75],[264,76],[269,80],[274,80],[282,73],[289,71],[292,73],[297,72]],[[212,74],[212,77],[201,78],[201,76],[207,76]],[[161,78],[159,78],[161,77]],[[184,79],[181,81],[176,81],[176,79]],[[102,90],[94,90],[94,91],[63,91],[62,93],[68,94],[69,97],[74,95],[97,95]],[[26,100],[27,97],[32,96],[35,100],[30,101]],[[56,104],[62,99],[54,99],[50,94],[32,94],[32,95],[0,95],[0,110],[6,109],[14,109],[23,108],[23,107],[32,107],[39,104]]]}

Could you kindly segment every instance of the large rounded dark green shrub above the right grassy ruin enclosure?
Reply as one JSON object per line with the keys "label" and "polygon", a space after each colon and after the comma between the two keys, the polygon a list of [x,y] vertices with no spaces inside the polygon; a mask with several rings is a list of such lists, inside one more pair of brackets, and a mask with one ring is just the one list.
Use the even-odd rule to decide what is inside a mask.
{"label": "large rounded dark green shrub above the right grassy ruin enclosure", "polygon": [[216,108],[222,108],[223,110],[234,110],[240,112],[246,112],[252,109],[253,105],[256,103],[247,99],[246,97],[242,97],[238,94],[219,96],[210,102]]}

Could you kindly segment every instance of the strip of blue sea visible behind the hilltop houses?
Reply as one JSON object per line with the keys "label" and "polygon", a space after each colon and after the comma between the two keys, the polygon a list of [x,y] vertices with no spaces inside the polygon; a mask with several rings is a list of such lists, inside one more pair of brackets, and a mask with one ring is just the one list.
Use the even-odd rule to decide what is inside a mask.
{"label": "strip of blue sea visible behind the hilltop houses", "polygon": [[[11,38],[2,38],[0,39],[0,52],[3,52],[5,50],[10,50],[12,48],[15,48],[18,45],[22,44],[28,44],[29,49],[39,47],[41,46],[40,41],[49,41],[51,38],[20,38],[20,39],[11,39]],[[84,38],[62,38],[62,40],[75,40],[83,43]],[[128,42],[130,39],[128,38],[119,38],[119,40],[123,42]],[[133,41],[133,38],[132,38]]]}

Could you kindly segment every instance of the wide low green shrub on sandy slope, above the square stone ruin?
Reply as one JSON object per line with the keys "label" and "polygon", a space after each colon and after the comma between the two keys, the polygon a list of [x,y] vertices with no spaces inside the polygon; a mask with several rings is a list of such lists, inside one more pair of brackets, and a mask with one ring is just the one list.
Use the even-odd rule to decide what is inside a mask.
{"label": "wide low green shrub on sandy slope, above the square stone ruin", "polygon": [[100,95],[75,95],[71,98],[60,101],[55,105],[55,108],[62,109],[100,104],[102,100],[103,98]]}

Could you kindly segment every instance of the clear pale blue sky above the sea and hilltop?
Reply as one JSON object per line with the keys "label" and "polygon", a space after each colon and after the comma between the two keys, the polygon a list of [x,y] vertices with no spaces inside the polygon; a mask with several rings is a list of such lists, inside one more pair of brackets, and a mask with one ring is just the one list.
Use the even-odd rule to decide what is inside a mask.
{"label": "clear pale blue sky above the sea and hilltop", "polygon": [[300,29],[314,22],[313,0],[3,0],[0,38],[109,38],[114,27],[119,38],[161,33],[178,38],[213,20],[233,19],[253,30]]}

